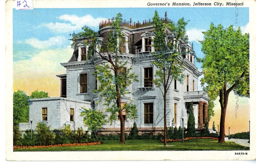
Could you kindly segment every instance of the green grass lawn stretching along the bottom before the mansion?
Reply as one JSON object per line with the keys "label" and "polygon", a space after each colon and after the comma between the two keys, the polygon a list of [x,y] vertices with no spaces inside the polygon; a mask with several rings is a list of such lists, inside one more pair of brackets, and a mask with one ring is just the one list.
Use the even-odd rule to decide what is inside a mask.
{"label": "green grass lawn stretching along the bottom before the mansion", "polygon": [[249,147],[237,145],[235,142],[219,144],[213,139],[189,139],[181,142],[170,142],[164,147],[158,140],[126,140],[126,144],[119,141],[103,141],[101,145],[90,146],[62,146],[49,148],[15,149],[15,152],[36,151],[180,151],[180,150],[249,150]]}

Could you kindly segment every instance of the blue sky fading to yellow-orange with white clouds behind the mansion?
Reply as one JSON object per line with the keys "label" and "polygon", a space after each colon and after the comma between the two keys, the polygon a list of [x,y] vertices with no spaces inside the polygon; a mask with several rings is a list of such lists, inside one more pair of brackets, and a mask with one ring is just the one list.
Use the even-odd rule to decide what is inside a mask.
{"label": "blue sky fading to yellow-orange with white clouds behind the mansion", "polygon": [[[34,90],[48,92],[50,97],[60,96],[60,79],[56,74],[66,73],[60,63],[68,62],[73,54],[71,36],[78,33],[84,25],[95,31],[99,22],[123,15],[124,20],[142,23],[153,18],[157,10],[160,17],[167,17],[177,22],[184,17],[190,42],[194,44],[196,56],[202,58],[201,44],[204,39],[202,31],[207,31],[210,24],[221,24],[224,27],[240,27],[242,33],[249,33],[249,8],[34,8],[33,10],[13,9],[13,92],[24,91],[30,95]],[[202,63],[196,62],[202,71]],[[202,78],[202,77],[200,77]],[[199,79],[200,80],[200,79]],[[199,81],[200,83],[200,81]],[[199,85],[198,90],[202,90]],[[249,131],[249,99],[241,98],[232,92],[229,98],[226,115],[225,132]],[[215,101],[215,115],[209,122],[215,127],[220,123],[220,105]]]}

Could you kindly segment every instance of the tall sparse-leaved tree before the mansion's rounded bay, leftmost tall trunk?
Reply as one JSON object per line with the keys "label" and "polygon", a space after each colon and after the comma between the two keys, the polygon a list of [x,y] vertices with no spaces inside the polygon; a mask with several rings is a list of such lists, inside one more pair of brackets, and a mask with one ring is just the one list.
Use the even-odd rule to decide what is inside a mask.
{"label": "tall sparse-leaved tree before the mansion's rounded bay, leftmost tall trunk", "polygon": [[[73,34],[71,40],[75,42],[76,38],[87,37],[88,41],[85,41],[84,44],[90,45],[88,58],[94,54],[106,61],[105,64],[95,66],[94,74],[98,79],[99,87],[94,92],[100,92],[100,98],[104,100],[103,105],[107,106],[106,111],[110,113],[110,123],[120,119],[120,143],[125,143],[123,113],[126,113],[127,118],[136,118],[137,109],[132,102],[128,102],[122,107],[121,99],[130,93],[126,88],[132,84],[132,81],[137,81],[137,76],[130,72],[131,68],[126,68],[127,61],[120,59],[122,55],[120,48],[125,42],[124,34],[121,33],[121,21],[122,15],[118,13],[111,23],[112,29],[109,31],[105,43],[101,44],[97,33],[87,26],[82,28],[84,32]],[[100,45],[100,52],[98,52],[96,48]]]}

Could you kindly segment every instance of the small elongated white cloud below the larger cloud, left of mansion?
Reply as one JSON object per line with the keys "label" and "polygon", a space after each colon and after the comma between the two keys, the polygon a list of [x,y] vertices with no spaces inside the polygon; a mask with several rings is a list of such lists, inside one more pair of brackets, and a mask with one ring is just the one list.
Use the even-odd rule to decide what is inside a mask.
{"label": "small elongated white cloud below the larger cloud, left of mansion", "polygon": [[51,46],[63,45],[64,41],[66,41],[66,38],[64,36],[56,36],[46,41],[40,41],[38,39],[31,38],[31,39],[27,39],[25,43],[31,45],[34,48],[43,49],[43,48],[49,48]]}

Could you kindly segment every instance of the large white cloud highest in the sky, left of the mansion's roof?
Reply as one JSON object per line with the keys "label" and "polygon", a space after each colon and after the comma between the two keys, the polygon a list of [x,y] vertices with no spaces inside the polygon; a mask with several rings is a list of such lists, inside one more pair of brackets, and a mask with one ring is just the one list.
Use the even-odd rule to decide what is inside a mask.
{"label": "large white cloud highest in the sky, left of the mansion's roof", "polygon": [[67,23],[48,23],[43,26],[48,27],[49,29],[59,32],[66,33],[72,32],[78,29],[81,29],[84,25],[89,27],[97,27],[102,20],[107,20],[106,18],[93,18],[91,15],[85,15],[83,17],[77,17],[76,15],[62,15],[58,17],[60,20],[64,20]]}

